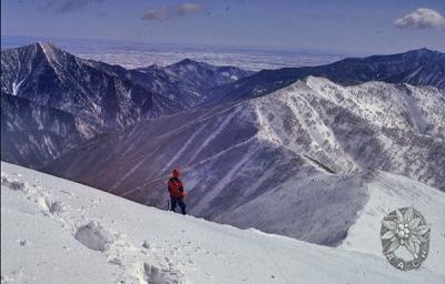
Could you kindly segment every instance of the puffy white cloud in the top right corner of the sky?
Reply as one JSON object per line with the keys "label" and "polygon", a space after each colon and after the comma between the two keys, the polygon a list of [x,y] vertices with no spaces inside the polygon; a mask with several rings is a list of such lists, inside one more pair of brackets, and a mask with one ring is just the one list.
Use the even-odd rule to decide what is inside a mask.
{"label": "puffy white cloud in the top right corner of the sky", "polygon": [[418,8],[414,12],[396,19],[394,26],[399,29],[444,28],[445,18],[433,9]]}

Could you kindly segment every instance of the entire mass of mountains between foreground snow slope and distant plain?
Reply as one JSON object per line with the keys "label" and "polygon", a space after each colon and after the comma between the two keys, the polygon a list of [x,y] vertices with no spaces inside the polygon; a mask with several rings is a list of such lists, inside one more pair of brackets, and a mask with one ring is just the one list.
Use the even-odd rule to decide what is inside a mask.
{"label": "entire mass of mountains between foreground snow slope and distant plain", "polygon": [[191,214],[335,245],[350,223],[306,234],[325,220],[312,201],[365,200],[375,169],[445,191],[441,52],[254,73],[191,60],[127,70],[36,43],[1,64],[3,161],[144,204],[165,209],[181,168]]}

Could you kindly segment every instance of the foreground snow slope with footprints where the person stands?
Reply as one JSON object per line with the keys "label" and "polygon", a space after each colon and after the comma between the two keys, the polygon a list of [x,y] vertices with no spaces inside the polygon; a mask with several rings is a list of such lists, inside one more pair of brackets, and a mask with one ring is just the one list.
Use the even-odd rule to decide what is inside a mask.
{"label": "foreground snow slope with footprints where the person stands", "polygon": [[382,256],[240,231],[8,163],[1,168],[2,283],[445,281],[426,267],[404,273]]}

